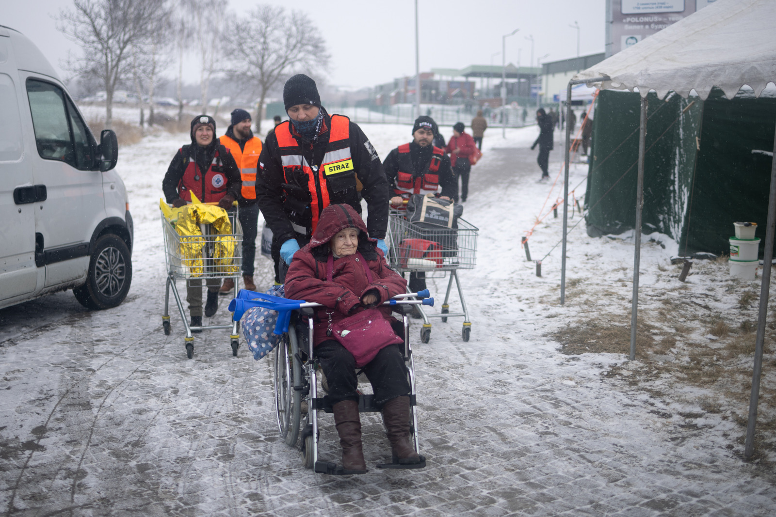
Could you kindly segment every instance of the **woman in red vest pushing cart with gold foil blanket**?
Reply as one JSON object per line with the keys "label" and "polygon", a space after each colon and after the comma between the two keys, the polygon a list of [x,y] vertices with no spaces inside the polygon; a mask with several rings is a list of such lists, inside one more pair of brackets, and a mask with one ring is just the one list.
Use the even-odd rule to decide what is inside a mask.
{"label": "woman in red vest pushing cart with gold foil blanket", "polygon": [[[161,182],[167,202],[175,207],[191,202],[193,192],[201,202],[218,202],[222,209],[230,209],[240,196],[240,170],[229,150],[216,138],[216,121],[208,115],[197,115],[192,120],[191,145],[182,146],[175,153]],[[219,278],[206,279],[207,302],[205,315],[210,318],[218,310]],[[202,280],[186,282],[186,301],[192,316],[191,326],[202,326]],[[202,332],[201,329],[192,332]]]}

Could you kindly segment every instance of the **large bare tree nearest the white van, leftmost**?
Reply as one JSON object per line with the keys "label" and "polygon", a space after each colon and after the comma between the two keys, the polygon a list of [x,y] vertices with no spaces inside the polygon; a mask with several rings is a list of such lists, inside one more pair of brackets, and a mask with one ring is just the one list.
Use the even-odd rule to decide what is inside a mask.
{"label": "large bare tree nearest the white van, leftmost", "polygon": [[144,40],[163,0],[73,0],[58,16],[59,29],[78,43],[82,56],[70,70],[98,78],[105,88],[106,128],[113,124],[113,91],[130,70],[130,47]]}

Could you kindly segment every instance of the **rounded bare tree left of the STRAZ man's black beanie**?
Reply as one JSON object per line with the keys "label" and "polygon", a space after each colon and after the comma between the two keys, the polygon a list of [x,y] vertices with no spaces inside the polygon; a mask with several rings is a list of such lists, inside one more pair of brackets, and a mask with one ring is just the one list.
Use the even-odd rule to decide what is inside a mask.
{"label": "rounded bare tree left of the STRAZ man's black beanie", "polygon": [[258,94],[256,132],[262,131],[262,109],[268,91],[290,74],[327,66],[329,55],[320,31],[302,12],[258,5],[224,33],[223,45],[234,84]]}

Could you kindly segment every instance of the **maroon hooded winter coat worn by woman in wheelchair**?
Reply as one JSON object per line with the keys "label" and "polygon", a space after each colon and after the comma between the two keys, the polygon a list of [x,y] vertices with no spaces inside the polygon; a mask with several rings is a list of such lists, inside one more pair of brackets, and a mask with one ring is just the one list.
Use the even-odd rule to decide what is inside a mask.
{"label": "maroon hooded winter coat worn by woman in wheelchair", "polygon": [[[372,284],[366,277],[358,254],[334,259],[334,273],[331,282],[327,281],[327,261],[331,255],[329,241],[345,228],[359,230],[359,253],[372,271]],[[378,302],[375,305],[407,292],[407,281],[388,267],[376,243],[375,239],[369,239],[361,215],[350,205],[329,205],[321,212],[310,243],[294,255],[286,273],[286,298],[316,302],[326,307],[317,308],[314,345],[334,339],[326,336],[327,310],[334,310],[331,320],[338,322],[365,309],[361,298],[368,291],[377,295]],[[393,321],[390,307],[380,307],[379,310],[386,319]]]}

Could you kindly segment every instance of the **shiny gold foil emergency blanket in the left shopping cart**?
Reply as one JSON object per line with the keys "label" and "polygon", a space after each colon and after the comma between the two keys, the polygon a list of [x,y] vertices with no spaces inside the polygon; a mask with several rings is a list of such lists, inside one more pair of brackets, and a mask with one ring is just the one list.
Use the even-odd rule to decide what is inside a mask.
{"label": "shiny gold foil emergency blanket in the left shopping cart", "polygon": [[[161,212],[178,233],[178,257],[192,278],[219,277],[240,272],[234,265],[237,237],[227,211],[218,205],[205,205],[192,193],[192,203],[172,208],[161,198]],[[214,235],[203,235],[202,226],[210,225]]]}

